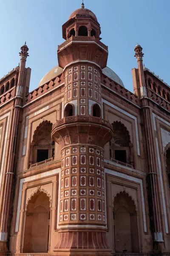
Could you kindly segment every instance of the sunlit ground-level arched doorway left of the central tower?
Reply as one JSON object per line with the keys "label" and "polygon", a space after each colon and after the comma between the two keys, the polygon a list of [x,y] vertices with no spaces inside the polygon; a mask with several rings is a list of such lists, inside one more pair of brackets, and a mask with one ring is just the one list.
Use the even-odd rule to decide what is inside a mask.
{"label": "sunlit ground-level arched doorway left of the central tower", "polygon": [[23,253],[47,253],[50,230],[50,201],[38,191],[28,203]]}

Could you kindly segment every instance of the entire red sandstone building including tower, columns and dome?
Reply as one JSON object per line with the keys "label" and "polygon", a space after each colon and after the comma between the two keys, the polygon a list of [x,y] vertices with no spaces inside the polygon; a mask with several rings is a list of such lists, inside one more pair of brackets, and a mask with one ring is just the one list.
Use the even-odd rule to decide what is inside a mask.
{"label": "entire red sandstone building including tower, columns and dome", "polygon": [[60,25],[37,88],[26,43],[0,79],[0,254],[170,255],[170,87],[137,44],[127,90],[83,3]]}

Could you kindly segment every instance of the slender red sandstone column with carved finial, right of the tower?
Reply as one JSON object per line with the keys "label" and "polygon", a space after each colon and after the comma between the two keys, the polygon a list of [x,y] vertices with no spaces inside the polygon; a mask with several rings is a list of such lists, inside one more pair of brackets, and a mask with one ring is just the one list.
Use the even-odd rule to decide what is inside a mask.
{"label": "slender red sandstone column with carved finial, right of the tower", "polygon": [[155,159],[155,148],[153,144],[153,130],[151,125],[151,113],[150,108],[148,106],[146,93],[146,86],[144,81],[144,70],[143,70],[143,53],[142,47],[140,45],[136,45],[135,47],[135,57],[138,62],[138,70],[139,70],[139,82],[140,82],[140,92],[141,92],[141,102],[143,108],[143,116],[144,116],[144,124],[145,124],[145,132],[147,139],[147,151],[149,156],[149,173],[148,180],[150,182],[150,192],[152,195],[152,205],[153,205],[153,229],[154,229],[154,240],[158,249],[162,249],[163,237],[162,237],[162,223],[161,223],[161,210],[159,203],[159,189],[158,189],[158,170],[156,168],[156,159]]}

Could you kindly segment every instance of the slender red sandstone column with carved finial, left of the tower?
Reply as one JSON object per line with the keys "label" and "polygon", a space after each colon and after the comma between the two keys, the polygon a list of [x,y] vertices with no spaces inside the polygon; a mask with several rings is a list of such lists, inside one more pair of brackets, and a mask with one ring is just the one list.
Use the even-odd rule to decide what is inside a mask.
{"label": "slender red sandstone column with carved finial, left of the tower", "polygon": [[17,92],[14,102],[14,115],[12,119],[12,132],[11,132],[11,140],[8,152],[8,166],[5,177],[5,189],[3,196],[3,208],[0,219],[0,251],[7,251],[6,245],[4,245],[8,240],[8,226],[10,222],[10,208],[11,208],[11,199],[12,199],[12,183],[13,183],[13,166],[14,166],[14,155],[16,151],[16,143],[17,143],[17,127],[19,122],[19,116],[22,108],[22,99],[23,99],[23,86],[24,86],[24,76],[25,76],[25,66],[26,66],[26,58],[28,56],[28,47],[23,45],[21,47],[21,61],[20,61],[20,71],[18,77],[17,84]]}

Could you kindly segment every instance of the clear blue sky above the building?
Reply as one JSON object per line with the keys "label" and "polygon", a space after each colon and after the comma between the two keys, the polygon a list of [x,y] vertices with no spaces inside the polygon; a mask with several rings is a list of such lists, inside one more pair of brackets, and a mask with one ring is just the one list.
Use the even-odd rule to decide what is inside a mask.
{"label": "clear blue sky above the building", "polygon": [[[20,61],[26,41],[31,67],[30,91],[57,65],[62,24],[81,0],[0,0],[0,78]],[[170,0],[84,0],[96,15],[102,42],[108,45],[108,67],[133,91],[134,47],[141,44],[145,67],[170,84]]]}

